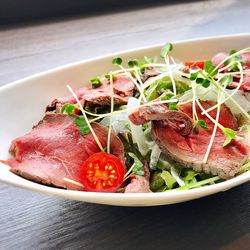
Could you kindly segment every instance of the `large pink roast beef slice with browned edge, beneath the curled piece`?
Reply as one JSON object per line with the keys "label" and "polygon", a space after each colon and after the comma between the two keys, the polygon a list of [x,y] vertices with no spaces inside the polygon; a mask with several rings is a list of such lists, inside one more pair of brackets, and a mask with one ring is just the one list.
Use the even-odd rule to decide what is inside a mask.
{"label": "large pink roast beef slice with browned edge, beneath the curled piece", "polygon": [[[211,101],[201,102],[207,109],[215,103]],[[192,117],[192,104],[180,105],[179,110]],[[198,133],[193,130],[189,135],[182,136],[172,127],[162,127],[161,121],[152,123],[152,136],[163,152],[172,160],[182,164],[184,167],[193,168],[199,172],[219,175],[222,179],[233,177],[240,169],[240,166],[247,159],[249,148],[243,141],[232,141],[228,146],[223,147],[225,136],[220,129],[217,129],[215,139],[206,163],[203,162],[209,141],[212,135],[214,124],[196,107],[199,119],[203,119],[208,130],[199,128]],[[215,119],[216,110],[210,112]],[[233,130],[238,129],[237,120],[231,111],[221,106],[219,123]]]}

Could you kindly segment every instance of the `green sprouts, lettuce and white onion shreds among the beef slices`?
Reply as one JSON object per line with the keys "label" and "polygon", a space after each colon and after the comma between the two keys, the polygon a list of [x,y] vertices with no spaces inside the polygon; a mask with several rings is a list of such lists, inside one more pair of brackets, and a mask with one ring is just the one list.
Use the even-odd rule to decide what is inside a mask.
{"label": "green sprouts, lettuce and white onion shreds among the beef slices", "polygon": [[[153,192],[192,189],[218,183],[222,180],[218,176],[185,168],[183,165],[168,159],[153,141],[150,124],[135,126],[129,121],[128,115],[136,107],[159,104],[167,106],[168,110],[178,110],[179,104],[192,103],[193,129],[195,133],[198,133],[199,129],[209,129],[206,121],[197,115],[196,109],[199,107],[202,111],[201,114],[214,125],[203,163],[207,163],[217,129],[221,130],[225,136],[225,140],[221,145],[222,147],[228,146],[232,140],[242,139],[238,135],[238,131],[224,127],[219,123],[222,104],[225,103],[231,108],[232,112],[235,112],[235,115],[239,116],[240,114],[240,116],[244,117],[246,124],[250,122],[250,107],[241,105],[241,103],[244,103],[245,97],[239,91],[240,85],[243,82],[243,76],[249,74],[249,71],[243,69],[241,54],[249,53],[250,48],[241,51],[232,50],[229,56],[217,66],[213,65],[210,60],[204,61],[204,68],[191,67],[189,72],[185,71],[183,64],[175,63],[174,59],[170,56],[172,50],[173,45],[167,43],[160,52],[160,56],[164,59],[164,62],[157,63],[153,58],[144,57],[144,60],[129,60],[127,62],[128,68],[122,66],[122,58],[113,58],[112,64],[118,66],[119,70],[112,71],[105,76],[92,78],[90,81],[93,88],[101,86],[104,80],[110,82],[112,89],[110,111],[98,113],[96,110],[86,109],[86,107],[81,105],[79,99],[69,86],[68,88],[75,97],[77,104],[65,104],[61,109],[62,113],[69,115],[76,115],[76,110],[81,111],[80,115],[76,115],[74,122],[79,127],[81,134],[85,135],[89,132],[93,134],[101,151],[104,151],[104,149],[95,132],[92,130],[91,123],[101,121],[103,124],[109,126],[108,152],[110,152],[111,128],[118,131],[117,133],[124,144],[126,152],[127,173],[125,174],[124,181],[128,181],[134,175],[144,176],[143,160],[145,160],[150,167],[150,188]],[[157,74],[142,81],[146,72],[145,69],[147,68],[156,69]],[[239,86],[234,90],[227,88],[234,81],[232,72],[234,74],[237,73],[239,77]],[[113,81],[119,74],[129,77],[136,88],[134,97],[128,100],[127,105],[122,106],[114,103]],[[201,101],[207,100],[214,101],[216,104],[205,109]],[[234,111],[232,106],[237,111]],[[215,109],[216,118],[213,118],[211,111]],[[250,170],[249,160],[241,167],[239,173],[241,174],[248,170]]]}

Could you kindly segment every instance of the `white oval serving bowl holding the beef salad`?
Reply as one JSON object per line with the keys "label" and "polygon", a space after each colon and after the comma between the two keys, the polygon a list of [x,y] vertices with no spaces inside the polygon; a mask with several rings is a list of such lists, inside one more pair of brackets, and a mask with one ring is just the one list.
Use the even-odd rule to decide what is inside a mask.
{"label": "white oval serving bowl holding the beef salad", "polygon": [[[84,86],[88,80],[114,69],[111,60],[120,56],[125,61],[143,56],[158,56],[162,44],[139,48],[102,56],[91,60],[80,61],[66,66],[42,72],[0,88],[0,159],[9,157],[8,148],[11,141],[31,130],[34,124],[43,117],[45,107],[56,97],[68,95],[66,85],[72,88]],[[243,49],[250,46],[250,34],[236,36],[210,37],[174,43],[172,55],[180,61],[209,59],[217,52],[230,49]],[[63,190],[47,187],[23,179],[9,171],[9,167],[0,163],[0,181],[17,187],[85,202],[117,206],[156,206],[173,204],[217,192],[226,191],[250,180],[250,171],[233,179],[206,187],[168,191],[164,193],[91,193]]]}

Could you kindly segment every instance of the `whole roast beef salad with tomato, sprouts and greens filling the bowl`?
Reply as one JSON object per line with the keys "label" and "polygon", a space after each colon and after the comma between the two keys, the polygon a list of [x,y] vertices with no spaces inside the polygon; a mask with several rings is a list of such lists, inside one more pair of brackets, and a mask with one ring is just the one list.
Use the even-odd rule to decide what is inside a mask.
{"label": "whole roast beef salad with tomato, sprouts and greens filling the bowl", "polygon": [[250,48],[211,60],[127,63],[53,100],[12,141],[10,171],[79,191],[186,190],[250,170]]}

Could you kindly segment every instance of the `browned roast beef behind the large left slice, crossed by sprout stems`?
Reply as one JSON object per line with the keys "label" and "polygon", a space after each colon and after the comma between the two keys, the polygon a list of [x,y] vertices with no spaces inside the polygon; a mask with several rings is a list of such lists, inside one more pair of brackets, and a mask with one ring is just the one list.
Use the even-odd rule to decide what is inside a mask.
{"label": "browned roast beef behind the large left slice, crossed by sprout stems", "polygon": [[[126,104],[128,97],[133,96],[134,83],[128,76],[118,75],[114,78],[113,89],[114,103]],[[76,90],[75,93],[83,106],[86,102],[99,105],[110,105],[111,103],[111,86],[107,80],[98,88],[84,87]],[[46,111],[60,109],[65,103],[75,104],[76,100],[72,95],[57,98],[47,106]]]}

